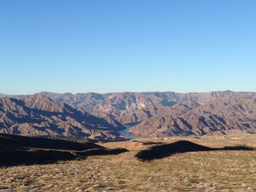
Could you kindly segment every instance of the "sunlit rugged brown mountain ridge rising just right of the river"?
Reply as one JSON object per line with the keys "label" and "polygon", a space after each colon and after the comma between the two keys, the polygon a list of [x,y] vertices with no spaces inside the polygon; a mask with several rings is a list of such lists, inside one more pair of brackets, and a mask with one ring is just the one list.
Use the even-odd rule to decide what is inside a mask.
{"label": "sunlit rugged brown mountain ridge rising just right of the river", "polygon": [[181,114],[154,115],[133,126],[130,132],[140,136],[166,137],[200,136],[211,132],[228,134],[233,130],[255,132],[255,97],[217,99]]}

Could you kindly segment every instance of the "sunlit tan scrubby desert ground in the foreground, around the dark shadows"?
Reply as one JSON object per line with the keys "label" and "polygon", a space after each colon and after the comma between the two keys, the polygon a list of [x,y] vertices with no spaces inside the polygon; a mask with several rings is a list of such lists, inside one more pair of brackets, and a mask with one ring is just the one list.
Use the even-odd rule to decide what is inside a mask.
{"label": "sunlit tan scrubby desert ground in the foreground, around the dark shadows", "polygon": [[[139,161],[135,154],[163,140],[114,142],[127,146],[120,155],[91,156],[59,164],[0,168],[0,191],[255,191],[256,151],[201,151]],[[165,140],[173,142],[173,140]],[[200,145],[224,147],[255,138],[193,139]],[[137,144],[136,144],[137,143]]]}

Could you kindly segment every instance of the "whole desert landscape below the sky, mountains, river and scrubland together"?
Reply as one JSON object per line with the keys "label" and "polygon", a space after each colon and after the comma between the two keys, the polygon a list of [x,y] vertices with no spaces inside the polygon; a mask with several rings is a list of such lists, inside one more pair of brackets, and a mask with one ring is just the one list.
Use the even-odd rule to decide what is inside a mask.
{"label": "whole desert landscape below the sky, mountains, river and scrubland together", "polygon": [[255,130],[249,92],[0,95],[0,191],[255,191]]}

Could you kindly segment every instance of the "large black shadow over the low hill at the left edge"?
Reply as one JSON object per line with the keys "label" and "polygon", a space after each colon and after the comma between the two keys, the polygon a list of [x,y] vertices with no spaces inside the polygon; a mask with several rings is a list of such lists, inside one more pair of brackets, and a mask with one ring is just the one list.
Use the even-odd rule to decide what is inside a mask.
{"label": "large black shadow over the low hill at the left edge", "polygon": [[108,149],[92,142],[0,134],[0,166],[53,164],[90,155],[118,155],[126,149]]}

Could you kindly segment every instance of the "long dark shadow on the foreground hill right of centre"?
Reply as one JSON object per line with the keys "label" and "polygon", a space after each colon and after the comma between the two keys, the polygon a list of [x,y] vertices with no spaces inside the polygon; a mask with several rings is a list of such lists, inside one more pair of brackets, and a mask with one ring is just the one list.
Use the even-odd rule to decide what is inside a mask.
{"label": "long dark shadow on the foreground hill right of centre", "polygon": [[176,153],[187,153],[196,151],[212,151],[212,150],[255,150],[251,147],[235,146],[211,148],[198,145],[189,141],[178,141],[171,144],[155,145],[148,150],[140,150],[135,157],[140,161],[151,161],[153,159],[165,158]]}

